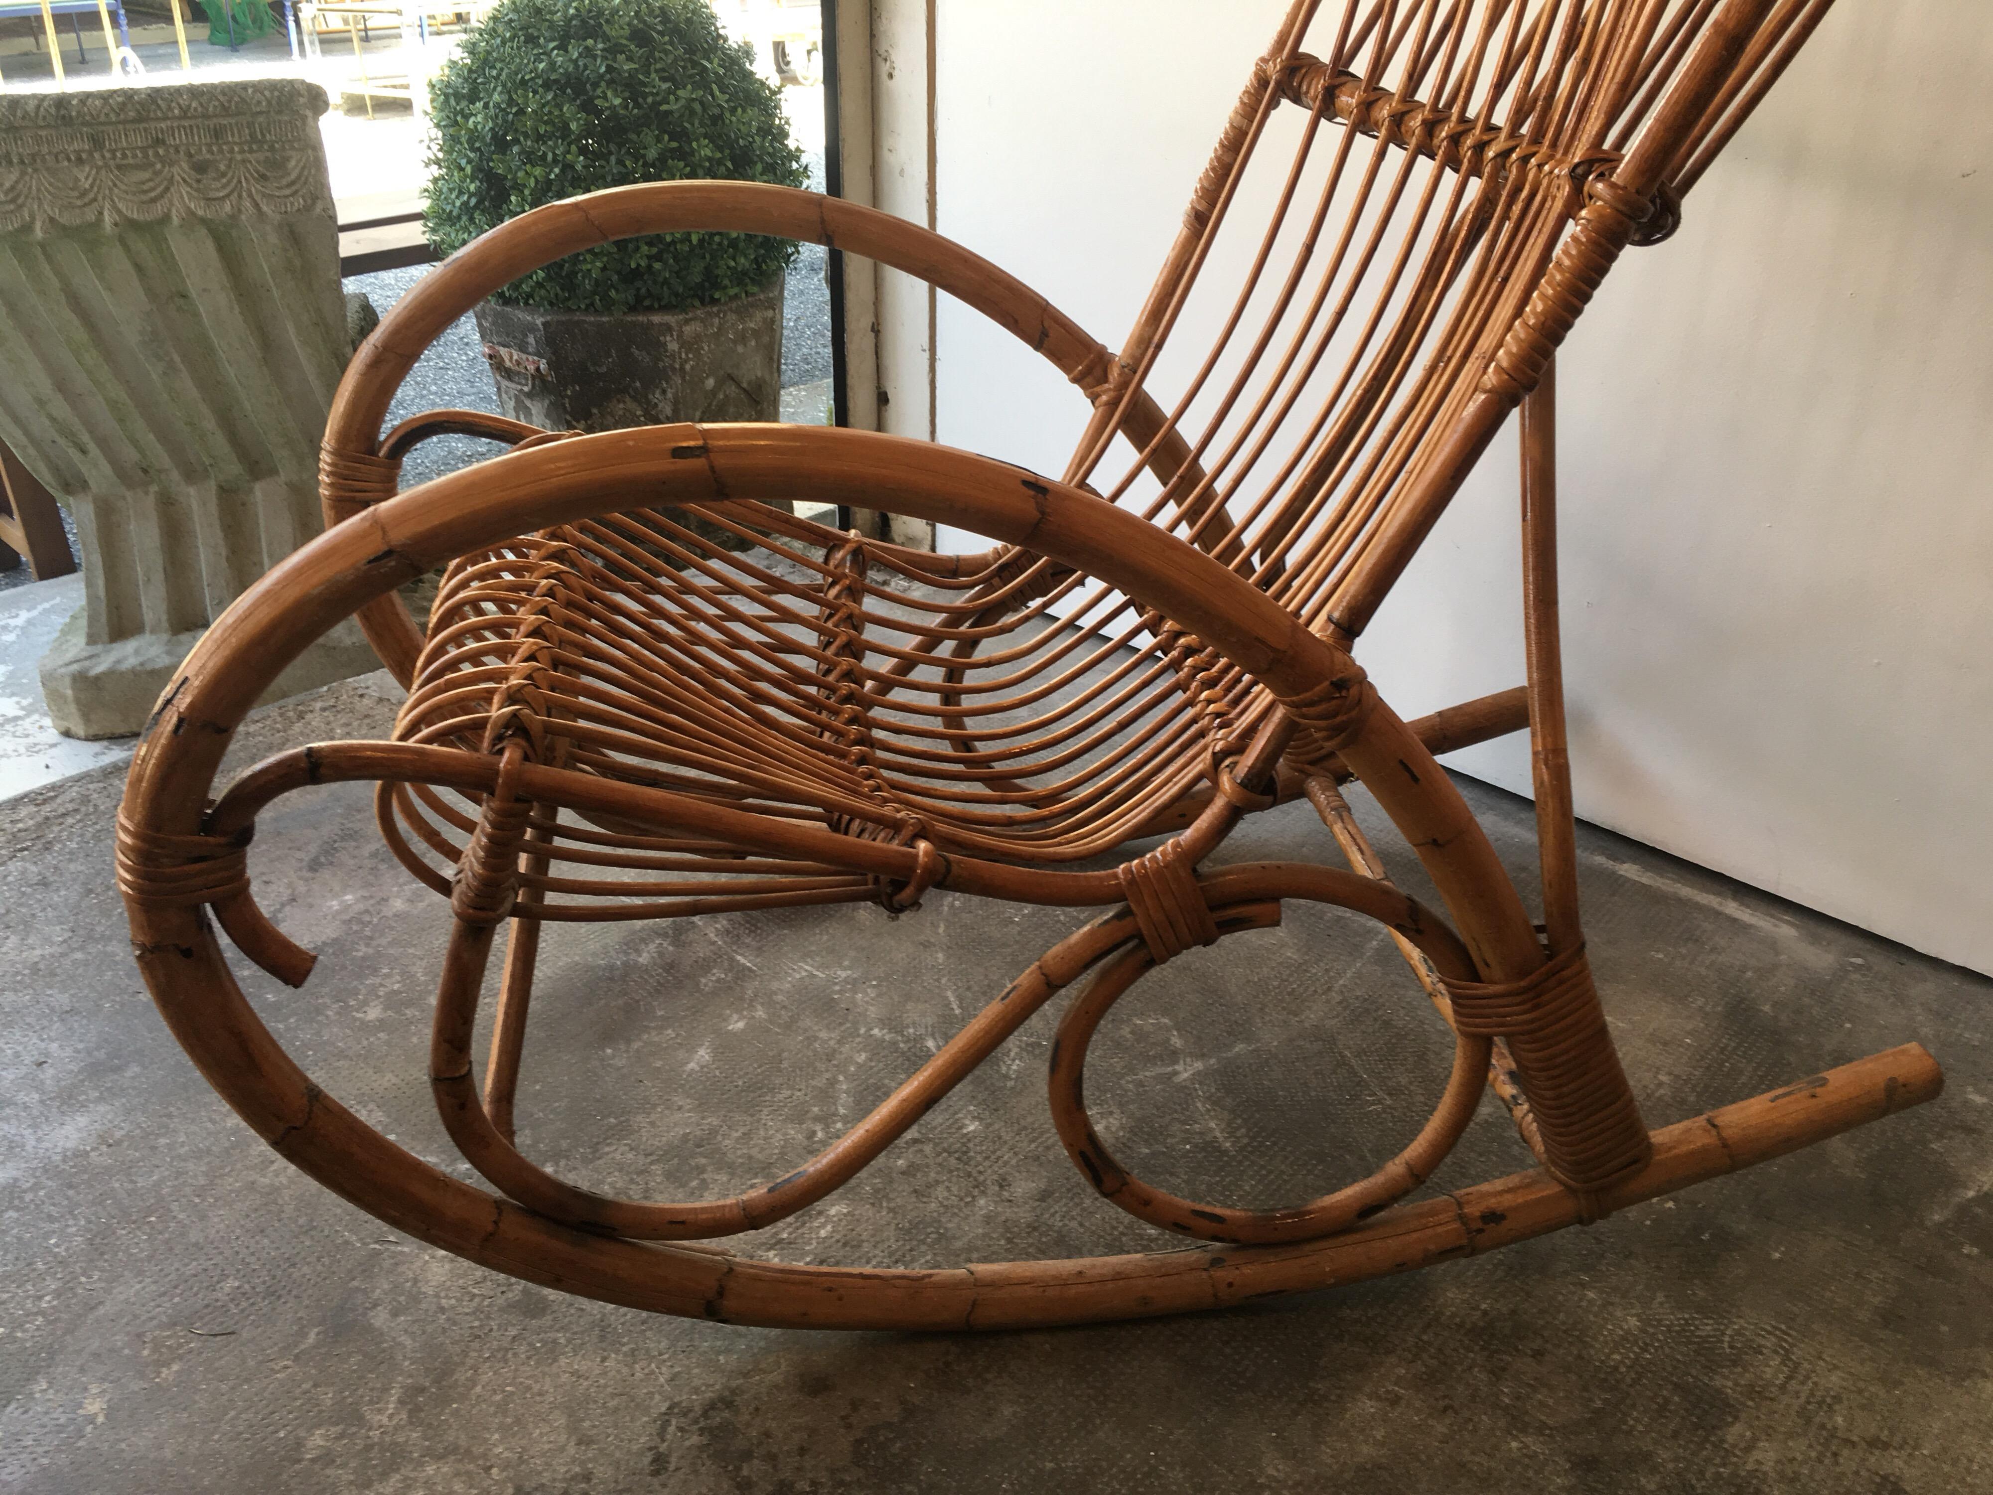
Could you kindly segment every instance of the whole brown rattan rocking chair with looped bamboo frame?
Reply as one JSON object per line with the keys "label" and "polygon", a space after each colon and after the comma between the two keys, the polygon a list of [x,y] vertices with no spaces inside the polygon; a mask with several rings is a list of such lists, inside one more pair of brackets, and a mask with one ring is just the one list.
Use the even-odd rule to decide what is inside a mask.
{"label": "whole brown rattan rocking chair with looped bamboo frame", "polygon": [[[1618,253],[1674,227],[1826,8],[1347,0],[1317,22],[1315,0],[1295,0],[1120,355],[935,233],[783,187],[604,191],[478,239],[353,361],[325,435],[327,532],[213,626],[140,746],[120,883],[175,1037],[273,1148],[401,1230],[592,1298],[815,1328],[1110,1320],[1401,1272],[1590,1222],[1935,1096],[1935,1062],[1907,1045],[1650,1132],[1578,927],[1551,359]],[[1293,153],[1254,197],[1242,183],[1270,140]],[[1150,393],[1158,357],[1206,265],[1224,263],[1212,247],[1244,201],[1270,203],[1258,249],[1226,287],[1210,357],[1164,409]],[[586,245],[672,229],[835,245],[949,291],[1092,403],[1070,466],[1054,480],[925,443],[771,425],[578,435],[442,411],[381,435],[411,365],[480,297]],[[1519,405],[1529,684],[1407,724],[1349,650]],[[448,431],[514,445],[397,496],[401,458]],[[1108,480],[1116,441],[1132,460]],[[993,546],[925,554],[799,518],[795,500],[937,520]],[[434,568],[446,570],[419,630],[395,588]],[[249,706],[351,614],[409,688],[393,740],[283,753],[209,801]],[[1541,933],[1433,761],[1523,728]],[[1417,849],[1443,913],[1385,879],[1339,793],[1351,777]],[[205,917],[303,983],[313,957],[251,897],[249,835],[279,795],[355,779],[377,783],[393,853],[450,901],[430,1082],[496,1192],[415,1158],[313,1084],[251,1013]],[[1347,865],[1212,861],[1242,817],[1295,797]],[[1102,869],[1108,855],[1118,865]],[[777,1182],[702,1202],[604,1198],[516,1146],[546,921],[913,909],[931,889],[1104,913]],[[1094,1134],[1088,1041],[1150,967],[1276,923],[1293,899],[1391,931],[1451,1023],[1451,1076],[1423,1130],[1369,1178],[1281,1210],[1178,1198]],[[480,1086],[472,1025],[500,929]],[[861,1270],[702,1244],[823,1200],[1088,973],[1052,1050],[1058,1134],[1092,1188],[1170,1250]],[[1539,1166],[1399,1202],[1489,1084]]]}

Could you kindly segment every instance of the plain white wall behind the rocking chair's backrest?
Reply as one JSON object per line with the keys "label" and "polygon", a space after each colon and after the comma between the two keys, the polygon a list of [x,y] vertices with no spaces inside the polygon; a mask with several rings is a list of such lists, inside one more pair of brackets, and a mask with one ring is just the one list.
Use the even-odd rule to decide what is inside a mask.
{"label": "plain white wall behind the rocking chair's backrest", "polygon": [[[939,0],[939,229],[1116,343],[1281,8]],[[1993,6],[1844,0],[1561,359],[1580,815],[1981,971],[1989,94]],[[939,439],[1058,470],[1078,395],[947,299],[935,339]],[[1523,678],[1513,466],[1357,650],[1405,716]],[[1521,738],[1455,765],[1529,789]]]}

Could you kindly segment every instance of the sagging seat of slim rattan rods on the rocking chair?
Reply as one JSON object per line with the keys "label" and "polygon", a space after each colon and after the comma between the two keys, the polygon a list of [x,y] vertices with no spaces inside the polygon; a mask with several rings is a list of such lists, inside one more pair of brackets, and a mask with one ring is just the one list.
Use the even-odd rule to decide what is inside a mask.
{"label": "sagging seat of slim rattan rods on the rocking chair", "polygon": [[[993,584],[995,562],[939,578],[893,554],[871,562],[863,542],[805,522],[783,524],[789,534],[747,530],[769,520],[717,506],[620,514],[458,560],[395,738],[478,751],[516,738],[534,761],[1014,863],[1112,851],[1204,781],[1202,722],[1172,716],[1182,682],[1196,684],[1190,650],[1174,650],[1182,668],[1154,650],[1138,656],[1128,640],[1146,630],[1134,608],[1122,602],[1108,626],[1068,622],[1044,598],[1024,600],[1028,572],[1008,586]],[[708,538],[729,528],[759,544],[735,552]],[[977,626],[995,614],[1008,616]],[[1038,668],[1014,658],[953,668],[991,636],[1002,656]],[[1044,688],[1060,676],[1064,690]],[[411,865],[446,891],[476,807],[450,811],[409,787],[391,801],[413,833],[397,847],[434,849],[440,867]],[[562,827],[586,843],[572,853],[550,821],[544,829],[554,861],[614,859],[614,837],[600,829]],[[656,837],[640,841],[628,865],[666,871]],[[873,895],[867,879],[835,867],[719,865],[712,847],[684,851],[700,865],[676,871],[704,877],[644,893],[731,907]],[[638,889],[616,885],[612,897]],[[598,905],[578,917],[660,911]]]}

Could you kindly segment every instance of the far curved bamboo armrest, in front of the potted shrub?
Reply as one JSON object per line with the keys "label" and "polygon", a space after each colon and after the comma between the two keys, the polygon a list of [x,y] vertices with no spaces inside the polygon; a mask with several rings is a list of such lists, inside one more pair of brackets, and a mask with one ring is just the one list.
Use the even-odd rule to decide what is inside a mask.
{"label": "far curved bamboo armrest, in front of the potted shrub", "polygon": [[[381,319],[347,365],[325,423],[319,478],[325,522],[337,524],[395,494],[399,452],[379,445],[381,423],[415,361],[450,323],[500,287],[562,255],[640,233],[688,229],[765,233],[877,259],[975,307],[1042,353],[1090,401],[1108,399],[1110,389],[1114,399],[1120,397],[1110,381],[1114,355],[1104,345],[1014,275],[931,229],[875,207],[757,181],[612,187],[536,207],[472,239]],[[1124,429],[1138,448],[1164,429],[1162,409],[1146,391],[1134,393]],[[1188,443],[1170,435],[1158,445],[1150,464],[1168,482],[1188,454]],[[395,598],[371,604],[361,612],[361,626],[381,662],[407,686],[421,652],[421,634],[401,604]]]}

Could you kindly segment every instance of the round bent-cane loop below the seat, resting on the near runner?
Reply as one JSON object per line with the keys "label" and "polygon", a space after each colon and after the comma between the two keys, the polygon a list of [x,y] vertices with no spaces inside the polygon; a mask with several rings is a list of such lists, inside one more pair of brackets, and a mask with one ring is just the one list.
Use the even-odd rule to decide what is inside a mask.
{"label": "round bent-cane loop below the seat, resting on the near runner", "polygon": [[[1276,897],[1281,901],[1307,899],[1349,907],[1339,897],[1343,885],[1321,879],[1313,875],[1315,871],[1313,867],[1293,869],[1295,875],[1274,889]],[[1278,917],[1266,923],[1236,921],[1222,927],[1214,937],[1230,935],[1238,929],[1266,929],[1272,923],[1278,923]],[[1443,973],[1471,969],[1465,951],[1461,951],[1443,927],[1421,925],[1415,933],[1407,933],[1403,925],[1393,927]],[[1100,1021],[1114,1003],[1158,965],[1162,965],[1162,959],[1150,945],[1136,945],[1118,955],[1088,983],[1086,991],[1074,997],[1058,1025],[1058,1037],[1052,1041],[1050,1102],[1058,1140],[1064,1142],[1066,1156],[1072,1158],[1094,1190],[1136,1220],[1146,1220],[1160,1230],[1192,1240],[1246,1246],[1280,1246],[1331,1236],[1401,1200],[1431,1178],[1433,1168],[1453,1150],[1453,1144],[1467,1130],[1475,1108],[1481,1104],[1493,1045],[1485,1035],[1461,1031],[1455,1035],[1453,1068],[1447,1074],[1445,1090],[1433,1114],[1403,1152],[1367,1178],[1307,1204],[1281,1210],[1240,1210],[1222,1204],[1200,1204],[1156,1188],[1116,1162],[1106,1142],[1094,1130],[1092,1118],[1086,1112],[1086,1050]]]}

